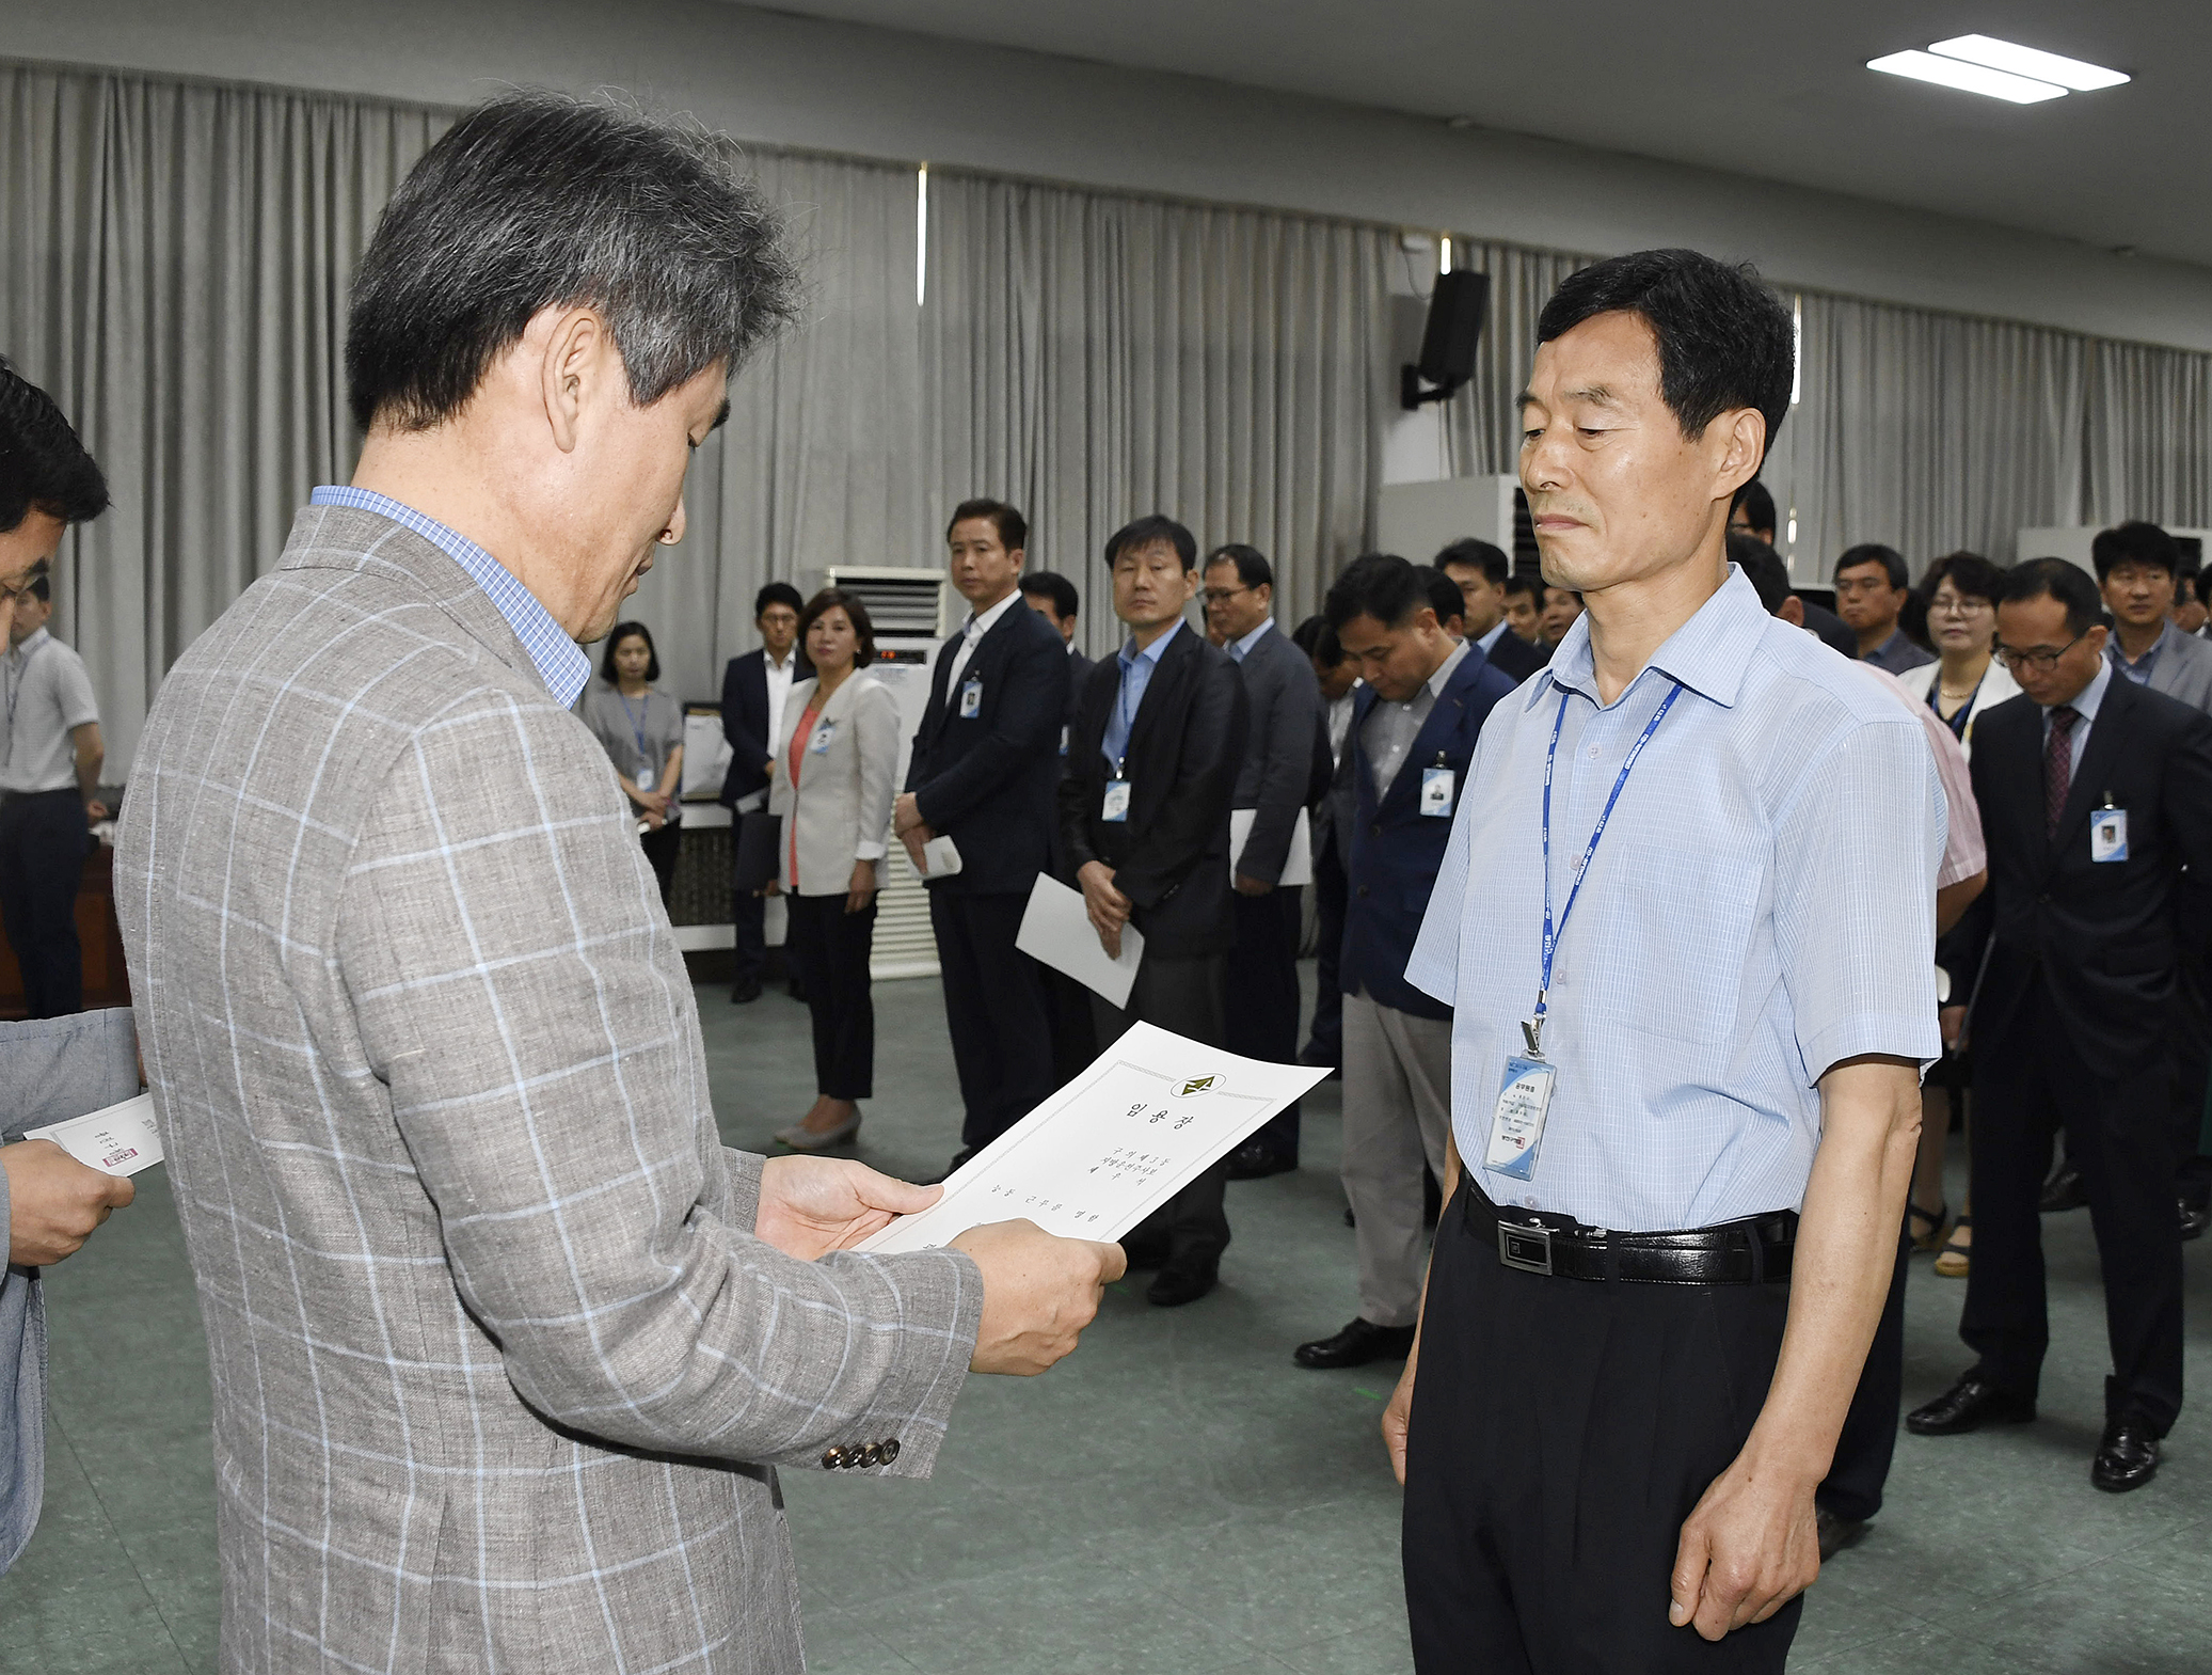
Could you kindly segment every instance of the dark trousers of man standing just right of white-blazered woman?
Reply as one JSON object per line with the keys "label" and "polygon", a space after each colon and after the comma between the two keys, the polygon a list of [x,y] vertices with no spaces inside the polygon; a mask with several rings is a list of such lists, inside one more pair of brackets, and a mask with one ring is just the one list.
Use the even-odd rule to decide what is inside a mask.
{"label": "dark trousers of man standing just right of white-blazered woman", "polygon": [[1026,907],[1026,894],[929,892],[929,929],[938,934],[938,969],[945,976],[945,1024],[967,1106],[960,1124],[967,1151],[989,1146],[1057,1086],[1044,967],[1013,945]]}

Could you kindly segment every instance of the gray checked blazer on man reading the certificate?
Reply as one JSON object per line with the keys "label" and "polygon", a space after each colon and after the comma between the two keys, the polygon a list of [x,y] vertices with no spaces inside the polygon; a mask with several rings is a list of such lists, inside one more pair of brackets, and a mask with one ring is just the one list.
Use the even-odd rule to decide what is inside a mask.
{"label": "gray checked blazer on man reading the certificate", "polygon": [[301,511],[161,686],[115,894],[221,1668],[803,1668],[772,1467],[925,1476],[980,1277],[752,1237],[615,770],[476,582]]}

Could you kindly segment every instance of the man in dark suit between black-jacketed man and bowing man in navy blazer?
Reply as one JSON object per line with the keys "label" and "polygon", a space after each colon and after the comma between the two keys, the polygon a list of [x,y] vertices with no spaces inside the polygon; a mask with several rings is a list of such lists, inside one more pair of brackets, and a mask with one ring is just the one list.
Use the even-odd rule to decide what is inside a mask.
{"label": "man in dark suit between black-jacketed man and bowing man in navy blazer", "polygon": [[[1206,622],[1243,675],[1245,732],[1232,810],[1252,810],[1252,828],[1234,856],[1237,982],[1228,989],[1228,1049],[1245,1058],[1292,1064],[1298,1058],[1298,936],[1303,885],[1285,885],[1290,859],[1314,781],[1321,737],[1321,684],[1290,635],[1274,626],[1274,566],[1252,547],[1219,547],[1208,555]],[[1307,832],[1312,845],[1312,832]],[[1312,854],[1312,847],[1307,847]],[[1230,1179],[1248,1182],[1298,1166],[1298,1102],[1267,1120],[1230,1157]]]}

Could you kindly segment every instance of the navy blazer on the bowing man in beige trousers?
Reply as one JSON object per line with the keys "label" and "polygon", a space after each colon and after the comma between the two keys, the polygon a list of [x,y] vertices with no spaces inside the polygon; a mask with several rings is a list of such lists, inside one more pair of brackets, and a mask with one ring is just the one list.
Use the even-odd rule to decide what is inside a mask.
{"label": "navy blazer on the bowing man in beige trousers", "polygon": [[1345,859],[1352,885],[1345,898],[1345,951],[1336,965],[1345,993],[1365,989],[1369,1000],[1416,1018],[1451,1016],[1451,1007],[1405,980],[1413,938],[1429,912],[1429,887],[1444,865],[1444,843],[1451,839],[1449,819],[1420,812],[1420,774],[1436,768],[1438,757],[1444,759],[1453,772],[1451,812],[1458,814],[1482,724],[1489,721],[1491,706],[1511,693],[1513,682],[1469,642],[1467,657],[1444,682],[1385,797],[1376,797],[1365,743],[1376,693],[1363,686],[1354,695],[1352,748],[1345,757],[1352,761],[1358,814],[1352,821],[1352,854]]}

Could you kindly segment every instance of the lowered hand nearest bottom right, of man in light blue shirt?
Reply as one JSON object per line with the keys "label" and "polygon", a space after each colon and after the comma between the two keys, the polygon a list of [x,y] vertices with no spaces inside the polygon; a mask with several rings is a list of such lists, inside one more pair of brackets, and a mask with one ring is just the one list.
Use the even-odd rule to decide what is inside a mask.
{"label": "lowered hand nearest bottom right, of man in light blue shirt", "polygon": [[1681,1527],[1668,1622],[1719,1640],[1730,1629],[1765,1622],[1809,1589],[1820,1573],[1816,1487],[1739,1454]]}

